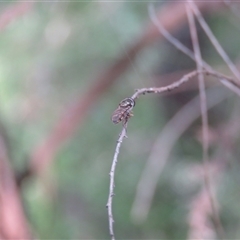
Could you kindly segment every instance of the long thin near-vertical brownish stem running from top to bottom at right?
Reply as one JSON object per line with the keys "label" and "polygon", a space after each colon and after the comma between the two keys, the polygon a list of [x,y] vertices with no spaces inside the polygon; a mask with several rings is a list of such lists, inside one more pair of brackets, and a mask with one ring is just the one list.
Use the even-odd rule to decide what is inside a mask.
{"label": "long thin near-vertical brownish stem running from top to bottom at right", "polygon": [[[191,4],[191,0],[188,0],[188,3]],[[192,38],[197,69],[198,69],[198,71],[201,71],[202,66],[203,66],[202,56],[201,56],[195,21],[194,21],[193,13],[192,13],[192,10],[191,10],[189,4],[186,4],[186,10],[187,10],[190,34],[191,34],[191,38]],[[208,165],[209,165],[208,164],[209,163],[209,153],[208,153],[209,127],[208,127],[207,99],[206,99],[204,75],[202,73],[198,74],[198,83],[199,83],[201,116],[202,116],[202,138],[203,138],[202,146],[203,146],[204,184],[205,184],[206,191],[207,191],[208,197],[209,197],[209,202],[210,202],[210,205],[212,208],[215,230],[216,230],[216,233],[218,233],[218,236],[220,237],[222,235],[220,233],[220,229],[222,229],[222,227],[221,227],[221,223],[220,223],[220,219],[219,219],[219,214],[217,212],[215,202],[214,202],[213,192],[212,192],[212,188],[211,188],[212,181],[211,181],[211,176],[210,176],[209,170],[208,170]]]}

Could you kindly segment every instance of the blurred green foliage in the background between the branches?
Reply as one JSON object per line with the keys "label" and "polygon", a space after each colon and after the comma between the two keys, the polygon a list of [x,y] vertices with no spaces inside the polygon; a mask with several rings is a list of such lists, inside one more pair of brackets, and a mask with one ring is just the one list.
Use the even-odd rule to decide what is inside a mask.
{"label": "blurred green foliage in the background between the branches", "polygon": [[[14,3],[1,3],[1,11],[11,4]],[[207,19],[223,47],[236,60],[240,20],[226,12]],[[7,136],[16,172],[26,167],[33,149],[48,136],[66,109],[95,83],[99,72],[126,54],[127,46],[138,39],[147,21],[146,2],[56,1],[35,3],[28,13],[1,32],[1,130]],[[179,32],[186,33],[180,34],[180,39],[189,39],[186,29]],[[217,68],[222,66],[225,71],[226,66],[203,35],[201,32],[206,61]],[[136,88],[155,85],[150,80],[153,72],[181,70],[184,65],[181,59],[183,56],[165,41],[144,49],[129,70],[96,102],[84,123],[55,156],[49,170],[50,186],[46,188],[34,177],[24,181],[25,211],[39,239],[109,238],[105,208],[108,173],[121,129],[121,125],[111,123],[111,113]],[[194,68],[194,64],[184,68]],[[189,99],[196,94],[197,91],[191,93]],[[181,107],[179,99],[151,95],[137,102],[116,172],[113,211],[118,239],[187,236],[189,204],[199,186],[189,184],[186,179],[189,166],[201,162],[202,158],[195,132],[199,124],[187,131],[173,149],[147,220],[138,225],[130,217],[136,186],[152,145],[169,116],[174,114],[169,109],[175,111]],[[228,124],[233,104],[239,104],[239,100],[228,100],[210,116],[213,127]],[[240,166],[237,150],[230,155],[234,168],[230,167],[222,176],[221,218],[228,238],[239,238]]]}

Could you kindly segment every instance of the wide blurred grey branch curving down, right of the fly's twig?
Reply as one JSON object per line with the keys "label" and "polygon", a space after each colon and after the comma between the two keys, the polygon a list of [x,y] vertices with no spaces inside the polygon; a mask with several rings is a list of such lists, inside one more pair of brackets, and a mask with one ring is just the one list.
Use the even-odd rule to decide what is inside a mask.
{"label": "wide blurred grey branch curving down, right of the fly's twig", "polygon": [[[219,92],[219,89],[209,89],[207,90],[207,95],[209,96],[208,109],[229,97],[229,93],[225,91]],[[131,216],[135,222],[141,223],[146,219],[156,191],[158,179],[174,144],[200,115],[199,97],[196,97],[168,121],[157,137],[139,180],[132,205]]]}

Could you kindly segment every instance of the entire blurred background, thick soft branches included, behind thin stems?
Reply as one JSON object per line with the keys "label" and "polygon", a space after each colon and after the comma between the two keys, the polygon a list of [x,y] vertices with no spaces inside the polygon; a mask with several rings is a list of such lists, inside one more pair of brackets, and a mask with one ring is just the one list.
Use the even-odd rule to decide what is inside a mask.
{"label": "entire blurred background, thick soft branches included, behind thin stems", "polygon": [[[154,8],[192,49],[184,4]],[[239,4],[196,4],[239,67]],[[1,2],[0,30],[1,238],[109,239],[109,171],[122,128],[111,114],[135,89],[170,84],[195,63],[153,26],[148,2]],[[232,76],[200,26],[198,34],[204,60]],[[225,238],[239,239],[239,96],[206,80],[217,213]],[[197,96],[195,79],[137,100],[115,175],[117,239],[217,238]]]}

